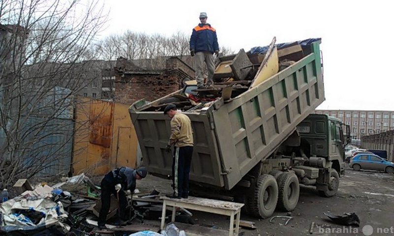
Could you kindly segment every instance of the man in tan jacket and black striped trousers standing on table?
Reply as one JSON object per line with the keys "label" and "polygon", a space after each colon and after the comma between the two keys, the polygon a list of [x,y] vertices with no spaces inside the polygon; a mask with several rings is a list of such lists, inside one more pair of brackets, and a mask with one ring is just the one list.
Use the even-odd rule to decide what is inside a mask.
{"label": "man in tan jacket and black striped trousers standing on table", "polygon": [[174,104],[169,104],[164,109],[164,115],[171,118],[171,136],[166,150],[171,150],[174,145],[172,158],[172,183],[174,192],[166,195],[170,198],[188,198],[189,172],[193,155],[193,130],[189,117],[178,111]]}

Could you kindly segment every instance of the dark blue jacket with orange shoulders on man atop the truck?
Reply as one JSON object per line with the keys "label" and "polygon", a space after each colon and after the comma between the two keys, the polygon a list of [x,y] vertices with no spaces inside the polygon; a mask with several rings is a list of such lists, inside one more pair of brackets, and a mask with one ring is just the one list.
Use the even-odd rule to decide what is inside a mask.
{"label": "dark blue jacket with orange shoulders on man atop the truck", "polygon": [[209,24],[198,24],[193,29],[190,37],[190,49],[197,52],[211,52],[219,51],[218,38],[216,30]]}

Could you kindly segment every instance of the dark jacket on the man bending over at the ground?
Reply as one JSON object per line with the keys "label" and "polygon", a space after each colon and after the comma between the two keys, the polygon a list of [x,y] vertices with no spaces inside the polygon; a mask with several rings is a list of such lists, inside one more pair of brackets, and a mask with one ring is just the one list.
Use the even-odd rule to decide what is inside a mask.
{"label": "dark jacket on the man bending over at the ground", "polygon": [[122,190],[135,190],[135,170],[129,167],[119,167],[110,171],[105,177],[114,186],[118,183],[122,185]]}

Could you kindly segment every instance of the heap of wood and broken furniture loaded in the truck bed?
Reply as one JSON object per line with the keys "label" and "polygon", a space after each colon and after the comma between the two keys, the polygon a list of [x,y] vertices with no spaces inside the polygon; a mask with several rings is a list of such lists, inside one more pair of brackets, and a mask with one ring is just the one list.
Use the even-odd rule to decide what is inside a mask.
{"label": "heap of wood and broken furniture loaded in the truck bed", "polygon": [[271,76],[283,71],[309,55],[312,42],[320,38],[311,38],[291,43],[271,44],[255,47],[249,52],[241,49],[237,54],[215,59],[214,85],[197,89],[196,81],[185,82],[181,91],[169,94],[148,104],[138,104],[140,111],[163,111],[169,103],[187,112],[199,112],[222,98],[230,102],[239,94],[255,88]]}

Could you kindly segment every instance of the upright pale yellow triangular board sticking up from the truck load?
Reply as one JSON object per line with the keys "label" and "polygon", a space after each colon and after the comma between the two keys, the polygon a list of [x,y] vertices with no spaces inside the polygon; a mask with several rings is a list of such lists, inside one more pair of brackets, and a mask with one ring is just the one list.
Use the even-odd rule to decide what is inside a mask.
{"label": "upright pale yellow triangular board sticking up from the truck load", "polygon": [[266,79],[275,75],[279,71],[279,58],[278,58],[278,49],[275,47],[276,38],[272,39],[271,44],[265,54],[265,58],[263,59],[262,64],[259,67],[259,70],[256,73],[255,78],[252,81],[249,89],[256,87],[261,84]]}

